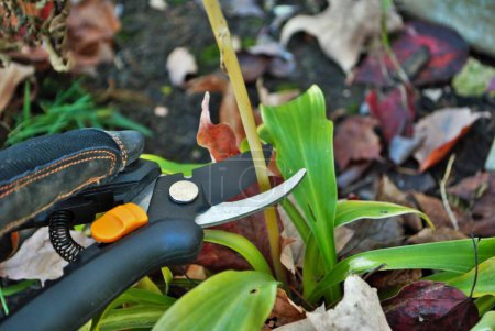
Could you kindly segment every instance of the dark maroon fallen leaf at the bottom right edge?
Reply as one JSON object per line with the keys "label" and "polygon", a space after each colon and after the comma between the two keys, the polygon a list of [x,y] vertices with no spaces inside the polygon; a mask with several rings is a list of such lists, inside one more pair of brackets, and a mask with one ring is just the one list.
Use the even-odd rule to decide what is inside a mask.
{"label": "dark maroon fallen leaf at the bottom right edge", "polygon": [[429,280],[405,287],[382,306],[396,331],[470,330],[479,320],[471,298],[454,287]]}

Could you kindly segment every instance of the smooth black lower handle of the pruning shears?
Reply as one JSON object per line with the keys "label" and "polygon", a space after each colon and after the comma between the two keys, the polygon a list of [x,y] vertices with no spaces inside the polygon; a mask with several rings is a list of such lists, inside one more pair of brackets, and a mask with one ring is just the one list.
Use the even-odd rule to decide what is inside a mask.
{"label": "smooth black lower handle of the pruning shears", "polygon": [[190,219],[151,223],[68,272],[0,330],[77,330],[152,269],[194,261],[202,238]]}

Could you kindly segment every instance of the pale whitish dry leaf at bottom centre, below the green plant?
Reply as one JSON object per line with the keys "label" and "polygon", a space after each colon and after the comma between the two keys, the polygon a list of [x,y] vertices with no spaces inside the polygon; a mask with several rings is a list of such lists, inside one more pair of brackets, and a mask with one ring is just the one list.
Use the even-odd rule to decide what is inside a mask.
{"label": "pale whitish dry leaf at bottom centre, below the green plant", "polygon": [[306,313],[307,319],[277,328],[277,331],[384,331],[391,330],[380,305],[375,288],[359,276],[349,276],[344,283],[344,297],[334,309],[319,307]]}

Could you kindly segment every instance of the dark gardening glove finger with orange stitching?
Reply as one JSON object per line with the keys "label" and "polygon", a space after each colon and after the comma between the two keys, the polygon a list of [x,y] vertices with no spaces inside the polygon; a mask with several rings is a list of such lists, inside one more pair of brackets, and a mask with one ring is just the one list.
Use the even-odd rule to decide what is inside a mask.
{"label": "dark gardening glove finger with orange stitching", "polygon": [[91,185],[106,183],[136,161],[136,131],[75,130],[0,151],[0,261],[12,253],[28,220]]}

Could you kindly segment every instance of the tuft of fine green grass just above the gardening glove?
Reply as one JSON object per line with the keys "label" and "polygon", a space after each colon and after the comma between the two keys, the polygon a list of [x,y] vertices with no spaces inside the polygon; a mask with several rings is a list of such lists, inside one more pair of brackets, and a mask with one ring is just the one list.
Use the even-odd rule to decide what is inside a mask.
{"label": "tuft of fine green grass just above the gardening glove", "polygon": [[111,108],[97,107],[79,82],[69,89],[59,92],[55,100],[40,101],[42,113],[33,114],[30,101],[30,85],[24,90],[24,107],[16,120],[15,128],[9,133],[6,145],[13,145],[26,139],[55,134],[72,129],[100,128],[100,129],[130,129],[150,136],[152,132]]}

